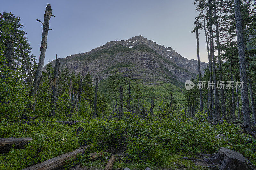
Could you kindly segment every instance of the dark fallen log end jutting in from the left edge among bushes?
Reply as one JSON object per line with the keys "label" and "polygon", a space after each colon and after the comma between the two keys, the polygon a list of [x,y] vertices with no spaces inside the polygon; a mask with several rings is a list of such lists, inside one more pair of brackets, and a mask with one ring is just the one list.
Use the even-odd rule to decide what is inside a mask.
{"label": "dark fallen log end jutting in from the left edge among bushes", "polygon": [[0,138],[0,154],[9,152],[12,145],[15,145],[14,149],[24,149],[31,140],[31,137]]}

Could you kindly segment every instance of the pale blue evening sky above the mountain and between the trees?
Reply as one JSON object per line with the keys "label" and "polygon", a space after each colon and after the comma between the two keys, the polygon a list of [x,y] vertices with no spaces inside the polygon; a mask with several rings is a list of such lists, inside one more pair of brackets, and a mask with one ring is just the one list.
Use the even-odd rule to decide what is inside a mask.
{"label": "pale blue evening sky above the mountain and between the trees", "polygon": [[[84,53],[108,41],[142,35],[181,56],[197,59],[196,35],[191,33],[196,17],[193,0],[9,0],[0,11],[21,18],[32,54],[40,55],[41,23],[47,3],[52,6],[45,64],[48,60]],[[203,30],[199,37],[201,61],[207,62]]]}

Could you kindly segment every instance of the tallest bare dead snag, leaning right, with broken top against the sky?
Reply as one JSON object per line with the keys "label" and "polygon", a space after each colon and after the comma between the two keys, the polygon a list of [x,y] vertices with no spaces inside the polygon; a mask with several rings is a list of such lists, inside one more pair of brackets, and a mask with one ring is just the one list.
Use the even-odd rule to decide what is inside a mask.
{"label": "tallest bare dead snag, leaning right, with broken top against the sky", "polygon": [[51,5],[47,4],[46,6],[46,10],[44,12],[44,23],[43,24],[43,32],[42,32],[42,41],[41,41],[41,46],[40,46],[40,56],[39,56],[39,62],[38,62],[38,66],[37,66],[37,70],[36,70],[36,75],[35,75],[35,79],[34,79],[34,84],[33,84],[33,88],[32,91],[29,94],[29,97],[34,97],[37,91],[37,88],[40,84],[40,79],[42,76],[42,72],[43,72],[43,67],[44,67],[44,58],[45,58],[45,52],[46,52],[46,48],[47,48],[47,35],[48,35],[48,30],[49,30],[49,21],[52,15],[52,9],[51,9]]}

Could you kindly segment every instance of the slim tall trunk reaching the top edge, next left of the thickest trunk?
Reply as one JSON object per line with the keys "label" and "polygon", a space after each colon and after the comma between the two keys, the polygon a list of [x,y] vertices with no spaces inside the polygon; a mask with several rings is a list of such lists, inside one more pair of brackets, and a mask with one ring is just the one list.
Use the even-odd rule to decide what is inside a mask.
{"label": "slim tall trunk reaching the top edge, next left of the thickest trunk", "polygon": [[[223,79],[222,76],[222,65],[221,65],[221,58],[220,58],[220,37],[219,37],[219,28],[218,28],[218,19],[217,19],[217,12],[216,12],[216,3],[213,0],[213,7],[214,7],[214,17],[215,17],[215,32],[216,32],[216,42],[217,42],[217,52],[218,52],[218,63],[219,63],[219,74],[220,74],[220,82]],[[224,89],[220,89],[220,100],[221,100],[221,113],[224,119],[226,118],[226,108],[225,108],[225,100],[224,100]]]}

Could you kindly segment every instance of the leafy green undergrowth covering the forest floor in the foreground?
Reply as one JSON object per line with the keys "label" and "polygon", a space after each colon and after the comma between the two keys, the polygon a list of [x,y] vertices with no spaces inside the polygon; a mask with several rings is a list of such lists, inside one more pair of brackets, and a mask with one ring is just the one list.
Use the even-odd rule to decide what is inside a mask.
{"label": "leafy green undergrowth covering the forest floor in the foreground", "polygon": [[[22,169],[98,142],[103,143],[91,152],[117,148],[127,154],[127,159],[115,163],[116,168],[129,167],[128,165],[133,169],[143,169],[145,166],[177,168],[189,164],[196,167],[191,161],[178,158],[196,153],[213,153],[220,147],[256,158],[253,152],[256,140],[242,134],[240,128],[233,124],[222,123],[214,127],[204,121],[205,115],[197,115],[197,119],[191,119],[183,113],[169,114],[161,120],[156,120],[151,115],[144,119],[127,112],[125,115],[122,121],[114,118],[108,122],[96,119],[88,122],[86,119],[75,126],[59,124],[56,119],[48,119],[52,122],[43,124],[6,124],[3,120],[0,122],[1,138],[32,137],[33,140],[25,149],[12,149],[1,154],[0,169]],[[78,127],[84,129],[76,136]],[[215,136],[219,133],[226,137],[217,140]],[[70,160],[67,162],[68,166],[74,166],[75,163],[85,166],[89,164],[86,156],[78,157],[78,160]]]}

